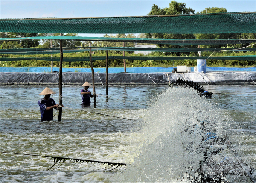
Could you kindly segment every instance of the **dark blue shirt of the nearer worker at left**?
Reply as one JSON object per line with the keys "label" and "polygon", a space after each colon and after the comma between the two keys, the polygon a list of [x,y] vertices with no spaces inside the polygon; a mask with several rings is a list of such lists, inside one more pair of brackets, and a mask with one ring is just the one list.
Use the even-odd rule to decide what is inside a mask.
{"label": "dark blue shirt of the nearer worker at left", "polygon": [[[38,105],[41,112],[41,121],[51,121],[53,120],[52,109],[46,111],[46,107],[51,107],[56,105],[55,101],[52,98],[45,100],[44,98],[38,100]],[[57,108],[55,108],[57,110]]]}

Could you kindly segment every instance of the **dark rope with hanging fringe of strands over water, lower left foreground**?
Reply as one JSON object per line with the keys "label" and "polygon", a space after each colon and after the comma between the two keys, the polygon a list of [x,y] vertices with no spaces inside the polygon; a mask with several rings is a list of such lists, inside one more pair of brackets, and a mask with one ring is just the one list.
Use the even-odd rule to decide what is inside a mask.
{"label": "dark rope with hanging fringe of strands over water, lower left foreground", "polygon": [[[35,155],[35,154],[11,153],[11,152],[3,152],[3,151],[0,151],[0,153],[49,157],[50,161],[53,159],[53,165],[47,170],[52,169],[58,163],[58,165],[56,165],[56,167],[53,169],[53,170],[55,170],[55,169],[59,168],[61,165],[63,165],[63,163],[66,162],[67,160],[70,160],[70,162],[73,161],[72,165],[69,168],[75,166],[76,163],[82,163],[82,165],[84,165],[85,163],[87,163],[87,164],[91,163],[91,166],[95,165],[95,167],[100,165],[98,168],[100,168],[103,165],[106,165],[105,167],[100,168],[100,169],[105,170],[105,171],[111,171],[111,170],[114,170],[114,169],[120,170],[121,168],[125,168],[127,166],[127,164],[125,164],[125,163],[103,162],[103,161],[95,161],[95,160],[87,160],[87,159],[74,159],[74,158],[55,157],[55,156],[41,156],[41,155]],[[82,165],[80,165],[80,166],[82,166]]]}

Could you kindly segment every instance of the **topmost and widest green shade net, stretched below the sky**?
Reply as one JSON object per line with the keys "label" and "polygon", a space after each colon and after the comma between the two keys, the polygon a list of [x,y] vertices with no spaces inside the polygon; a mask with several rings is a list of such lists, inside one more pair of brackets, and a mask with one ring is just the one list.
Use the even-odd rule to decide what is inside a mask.
{"label": "topmost and widest green shade net, stretched below the sky", "polygon": [[0,32],[255,33],[256,12],[137,17],[0,19]]}

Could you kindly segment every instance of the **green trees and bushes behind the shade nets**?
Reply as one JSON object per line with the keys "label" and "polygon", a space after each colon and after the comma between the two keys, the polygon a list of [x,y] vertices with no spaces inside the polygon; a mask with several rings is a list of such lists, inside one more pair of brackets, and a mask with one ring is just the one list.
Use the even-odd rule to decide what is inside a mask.
{"label": "green trees and bushes behind the shade nets", "polygon": [[[198,14],[205,13],[220,13],[227,12],[225,8],[206,8],[202,11],[198,11]],[[173,14],[190,14],[195,13],[190,7],[186,7],[186,3],[178,3],[172,1],[169,7],[159,8],[157,5],[153,5],[148,15],[173,15]],[[59,34],[45,34],[45,33],[9,33],[21,37],[35,37],[35,36],[58,36]],[[64,36],[78,36],[78,34],[66,34]],[[15,36],[0,34],[0,38],[11,38]],[[116,37],[116,38],[135,38],[134,34],[116,34],[116,35],[104,35],[104,37]],[[163,39],[256,39],[256,33],[237,33],[237,34],[139,34],[137,38],[163,38]],[[63,47],[75,47],[75,46],[88,46],[90,41],[62,41]],[[92,46],[98,47],[123,47],[122,42],[103,42],[95,41],[91,42]],[[245,47],[250,44],[236,44],[236,45],[200,45],[201,48],[220,48],[220,47]],[[59,47],[59,40],[52,41],[53,47]],[[125,47],[134,47],[134,43],[125,43]],[[23,41],[1,41],[0,49],[11,48],[49,48],[50,40],[23,40]],[[160,48],[180,48],[176,45],[162,45]],[[197,46],[186,46],[195,48]],[[251,47],[256,47],[253,45]],[[213,52],[202,52],[201,56],[210,56]],[[215,52],[212,56],[239,56],[239,55],[255,55],[255,52],[248,51],[225,51]],[[1,57],[35,57],[35,55],[5,55],[0,54]],[[80,53],[65,53],[64,57],[88,57],[88,52]],[[93,56],[106,56],[105,51],[94,51]],[[108,56],[122,56],[122,51],[108,51]],[[134,54],[134,51],[125,51],[125,56],[143,56],[142,54]],[[197,52],[152,52],[147,56],[198,56]],[[37,57],[50,57],[49,55],[37,55]],[[59,54],[53,54],[53,57],[59,57]],[[109,60],[109,67],[123,67],[122,59]],[[1,66],[5,67],[50,67],[50,61],[41,60],[23,60],[12,62],[0,62]],[[105,60],[94,61],[94,67],[105,67]],[[172,67],[177,65],[196,66],[197,60],[162,60],[162,61],[140,61],[140,60],[126,60],[126,67]],[[213,67],[250,67],[256,65],[255,61],[247,60],[207,60],[207,66]],[[53,62],[53,66],[58,67],[59,62]],[[64,62],[64,67],[90,67],[90,62]]]}

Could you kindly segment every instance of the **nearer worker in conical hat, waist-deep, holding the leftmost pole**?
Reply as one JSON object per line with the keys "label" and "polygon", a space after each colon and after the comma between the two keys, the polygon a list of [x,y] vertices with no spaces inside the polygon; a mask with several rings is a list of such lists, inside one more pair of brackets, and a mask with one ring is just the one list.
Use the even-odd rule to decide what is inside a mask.
{"label": "nearer worker in conical hat, waist-deep, holding the leftmost pole", "polygon": [[[44,95],[44,98],[41,98],[38,101],[41,112],[41,121],[51,121],[53,120],[52,110],[58,110],[59,104],[56,104],[55,101],[50,98],[51,94],[56,94],[53,90],[46,87],[39,95]],[[63,106],[63,105],[62,105]]]}

